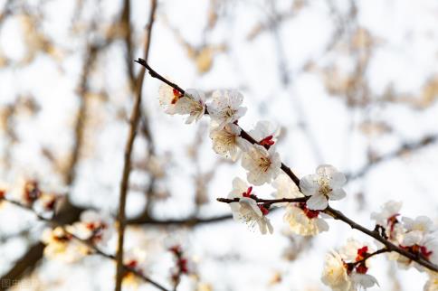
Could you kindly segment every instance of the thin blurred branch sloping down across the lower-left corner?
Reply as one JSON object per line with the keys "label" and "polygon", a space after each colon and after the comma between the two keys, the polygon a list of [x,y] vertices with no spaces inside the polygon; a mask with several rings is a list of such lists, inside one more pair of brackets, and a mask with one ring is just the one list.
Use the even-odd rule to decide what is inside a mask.
{"label": "thin blurred branch sloping down across the lower-left corner", "polygon": [[[63,223],[59,223],[58,221],[54,221],[52,219],[48,219],[48,218],[43,217],[39,213],[35,212],[31,206],[24,205],[24,204],[22,204],[20,202],[16,202],[16,201],[13,201],[13,200],[6,199],[4,197],[3,198],[0,197],[0,202],[8,202],[8,203],[14,204],[15,206],[18,206],[18,207],[26,210],[26,211],[31,211],[31,212],[33,212],[33,215],[35,215],[35,217],[39,221],[47,222],[47,223],[49,223],[51,225],[51,227],[62,227],[62,230],[64,230],[66,233],[70,234],[72,238],[74,238],[74,239],[78,240],[79,242],[81,242],[82,244],[86,245],[87,247],[92,249],[96,254],[100,255],[101,257],[109,258],[111,260],[115,260],[116,259],[115,256],[109,255],[109,254],[103,252],[102,250],[100,250],[96,245],[94,245],[90,241],[90,239],[81,239],[81,238],[77,237],[74,233],[71,233],[70,231],[66,230],[63,227],[64,226]],[[43,243],[41,245],[42,245],[41,252],[43,253],[44,245],[43,245]],[[130,268],[129,266],[122,265],[122,269],[123,269],[124,274],[126,274],[126,272],[131,272],[131,273],[135,274],[136,276],[142,278],[144,281],[148,282],[149,284],[151,284],[153,286],[156,286],[159,290],[168,291],[168,289],[166,287],[158,284],[156,281],[154,281],[151,278],[145,276],[144,274],[142,274],[141,272],[139,272],[135,268]],[[0,281],[0,282],[5,282],[5,281]],[[3,285],[2,285],[2,288],[3,288]]]}

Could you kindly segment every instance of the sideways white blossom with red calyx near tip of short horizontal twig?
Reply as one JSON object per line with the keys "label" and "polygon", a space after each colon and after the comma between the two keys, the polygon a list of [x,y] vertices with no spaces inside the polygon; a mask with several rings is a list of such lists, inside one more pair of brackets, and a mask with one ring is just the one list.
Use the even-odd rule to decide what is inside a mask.
{"label": "sideways white blossom with red calyx near tip of short horizontal twig", "polygon": [[233,219],[235,221],[243,221],[250,229],[254,229],[258,225],[262,234],[266,234],[268,231],[272,233],[271,221],[265,216],[267,212],[263,213],[257,202],[250,197],[251,192],[252,187],[249,187],[242,179],[235,178],[233,180],[233,190],[228,194],[228,198],[239,198],[239,202],[231,202],[229,204],[233,212]]}

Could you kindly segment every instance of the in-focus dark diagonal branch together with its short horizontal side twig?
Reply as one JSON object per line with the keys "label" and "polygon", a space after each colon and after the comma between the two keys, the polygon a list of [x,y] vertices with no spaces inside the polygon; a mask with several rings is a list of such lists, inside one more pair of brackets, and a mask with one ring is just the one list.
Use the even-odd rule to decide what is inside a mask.
{"label": "in-focus dark diagonal branch together with its short horizontal side twig", "polygon": [[[156,70],[153,70],[148,65],[147,61],[139,58],[136,62],[138,62],[140,65],[144,66],[148,70],[149,75],[152,78],[156,78],[158,80],[161,80],[162,82],[166,83],[168,86],[172,87],[173,89],[178,90],[181,94],[185,94],[184,89],[181,89],[178,85],[172,83],[171,81],[167,80],[166,78],[161,76],[159,73],[157,73]],[[206,113],[208,113],[208,112],[206,112]],[[246,139],[247,141],[249,141],[252,144],[259,144],[254,138],[252,138],[252,136],[250,136],[243,129],[242,129],[241,137]],[[290,179],[293,181],[293,183],[295,183],[297,185],[297,187],[299,187],[299,189],[300,189],[300,178],[296,174],[294,174],[292,172],[292,170],[290,170],[290,167],[287,166],[286,164],[281,163],[281,170],[285,174],[287,174],[290,177]],[[307,199],[306,197],[301,197],[298,199],[291,199],[290,202],[304,202],[304,201],[306,201],[306,199]],[[235,198],[235,199],[218,198],[217,199],[218,202],[225,202],[225,203],[238,202],[238,200],[239,200],[238,198]],[[281,201],[258,199],[258,201],[256,200],[256,202],[272,204],[272,203],[288,202],[288,201],[284,201],[282,199],[281,199]],[[428,268],[430,270],[438,272],[438,266],[434,265],[433,263],[431,263],[430,261],[428,261],[425,258],[419,257],[416,254],[413,254],[405,249],[402,249],[402,248],[396,246],[391,241],[389,241],[386,238],[384,238],[383,236],[381,236],[380,233],[378,232],[378,230],[368,230],[366,227],[358,224],[355,221],[350,220],[341,211],[335,210],[335,209],[331,208],[330,206],[328,206],[327,209],[325,209],[323,212],[327,213],[328,215],[333,217],[335,220],[343,221],[343,222],[347,223],[352,229],[359,230],[359,231],[367,234],[368,236],[380,241],[382,244],[384,244],[385,251],[384,250],[378,251],[375,254],[373,254],[373,256],[380,254],[380,253],[384,253],[384,252],[395,251],[396,253],[404,256],[405,258],[409,258],[409,259],[413,260],[414,262],[422,265],[425,268]]]}

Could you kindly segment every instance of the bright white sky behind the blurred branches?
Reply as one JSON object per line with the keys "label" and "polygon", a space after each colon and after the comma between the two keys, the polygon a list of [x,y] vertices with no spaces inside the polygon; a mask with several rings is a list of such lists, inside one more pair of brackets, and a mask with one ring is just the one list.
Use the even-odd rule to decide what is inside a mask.
{"label": "bright white sky behind the blurred branches", "polygon": [[[5,1],[0,1],[0,7]],[[42,1],[28,1],[39,5]],[[2,181],[14,182],[19,176],[36,176],[42,183],[62,187],[60,177],[52,174],[52,166],[41,155],[42,146],[56,155],[67,155],[71,146],[71,124],[78,106],[76,84],[81,70],[81,49],[84,38],[71,36],[71,14],[73,1],[46,1],[43,5],[43,32],[65,53],[66,58],[56,62],[45,55],[37,55],[29,66],[16,64],[13,68],[0,69],[0,108],[10,104],[17,94],[32,94],[41,111],[29,117],[20,115],[16,131],[20,143],[10,146],[0,137],[0,161],[11,151],[13,163],[7,167],[0,163]],[[348,1],[328,1],[346,13]],[[335,26],[329,14],[328,2],[309,1],[298,14],[281,23],[279,39],[290,76],[290,84],[281,84],[278,69],[279,54],[273,33],[260,33],[252,41],[247,35],[258,23],[269,21],[269,1],[246,0],[224,1],[219,23],[213,31],[203,36],[208,1],[166,0],[159,1],[154,27],[150,64],[175,81],[182,88],[241,89],[248,113],[240,120],[243,128],[250,129],[258,120],[271,120],[283,130],[278,145],[282,161],[299,176],[312,173],[319,164],[333,164],[345,173],[354,173],[367,164],[367,149],[371,146],[379,154],[398,148],[402,142],[416,141],[427,134],[438,133],[438,104],[428,108],[414,108],[405,103],[379,102],[388,85],[403,95],[420,96],[425,81],[437,78],[438,68],[438,2],[436,0],[364,0],[357,1],[357,26],[367,29],[377,41],[366,78],[374,99],[365,108],[348,107],[345,97],[329,94],[324,86],[320,69],[338,67],[340,73],[353,68],[354,56],[345,44],[336,52],[325,53],[332,39]],[[86,2],[88,3],[88,2]],[[290,1],[276,1],[277,10],[284,12]],[[102,27],[110,23],[119,11],[120,1],[101,1]],[[92,18],[96,6],[90,5]],[[133,23],[138,32],[147,23],[148,1],[134,1],[131,10]],[[187,58],[185,48],[177,41],[170,27],[175,28],[186,42],[201,45],[203,42],[228,47],[227,53],[217,53],[213,68],[199,74],[193,61]],[[354,32],[348,32],[354,33]],[[93,35],[90,36],[91,38]],[[138,34],[138,40],[141,35]],[[0,28],[0,52],[12,61],[23,60],[28,53],[25,42],[23,20],[11,17]],[[138,45],[138,48],[140,46]],[[117,118],[120,110],[129,110],[127,81],[120,70],[125,70],[121,43],[113,45],[99,62],[100,68],[92,75],[92,87],[109,89],[111,95],[104,107],[95,104],[93,131],[87,135],[87,155],[79,164],[77,182],[71,188],[71,199],[80,205],[90,205],[103,210],[117,210],[119,180],[123,164],[123,147],[128,132],[126,123]],[[61,52],[61,53],[62,53]],[[135,57],[141,57],[138,49]],[[301,70],[312,61],[312,68]],[[122,69],[120,69],[122,68]],[[136,71],[138,71],[136,66]],[[434,77],[433,77],[434,76]],[[326,76],[327,77],[327,76]],[[337,80],[337,76],[328,74]],[[157,218],[185,217],[193,211],[195,166],[187,157],[187,146],[194,140],[198,127],[207,125],[208,117],[199,124],[186,126],[182,117],[169,117],[159,108],[157,89],[160,83],[149,77],[144,88],[143,106],[150,118],[152,133],[157,144],[158,155],[171,155],[172,166],[167,167],[167,179],[162,182],[171,193],[166,202],[157,202],[154,214]],[[307,129],[302,130],[304,120]],[[364,120],[381,121],[392,127],[392,131],[380,136],[366,136],[359,126]],[[306,133],[307,131],[307,133]],[[208,171],[219,158],[211,150],[211,142],[205,133],[201,147],[202,171]],[[309,136],[316,141],[317,150],[312,149]],[[138,139],[135,144],[136,157],[144,155],[145,142]],[[344,211],[348,217],[373,228],[369,214],[377,211],[388,200],[403,201],[402,214],[415,217],[428,215],[437,221],[438,196],[438,146],[427,146],[407,155],[403,159],[390,160],[376,165],[363,179],[348,183],[347,199],[334,202],[333,206]],[[170,154],[168,154],[170,153]],[[319,153],[316,155],[316,153]],[[217,167],[212,183],[208,187],[211,202],[203,206],[200,215],[212,217],[229,212],[229,207],[214,202],[224,197],[232,188],[235,176],[245,177],[239,164],[221,164]],[[145,174],[133,173],[132,181],[147,181]],[[272,188],[263,186],[255,191],[269,197]],[[359,205],[357,193],[364,194]],[[135,215],[144,205],[141,192],[130,192],[128,212]],[[22,211],[5,207],[0,211],[0,232],[14,232],[25,224],[27,216]],[[32,219],[32,218],[31,218]],[[146,249],[150,260],[151,277],[167,282],[171,257],[163,246],[181,241],[191,258],[195,258],[203,282],[214,290],[328,290],[319,277],[323,258],[329,249],[342,246],[348,237],[372,242],[348,226],[329,221],[328,233],[319,235],[312,246],[300,253],[294,261],[282,258],[290,246],[283,234],[286,225],[282,212],[272,213],[274,234],[262,236],[252,233],[243,224],[226,221],[207,224],[193,231],[171,230],[168,233],[144,228],[143,234],[132,231],[128,234],[127,247]],[[437,221],[438,222],[438,221]],[[35,229],[35,237],[39,233]],[[114,241],[110,247],[115,246]],[[7,270],[6,263],[19,258],[26,248],[24,239],[14,239],[0,247],[2,263],[0,271]],[[114,266],[108,260],[86,258],[82,263],[66,266],[59,262],[44,260],[37,274],[44,282],[52,282],[47,290],[110,290]],[[271,277],[280,272],[283,281],[269,286]],[[370,290],[391,290],[391,276],[386,258],[377,258],[370,274],[379,287]],[[397,271],[401,289],[420,290],[426,277],[414,269]],[[61,286],[54,282],[60,277],[66,281]],[[192,290],[189,279],[183,280],[180,291]],[[153,290],[142,286],[140,290]]]}

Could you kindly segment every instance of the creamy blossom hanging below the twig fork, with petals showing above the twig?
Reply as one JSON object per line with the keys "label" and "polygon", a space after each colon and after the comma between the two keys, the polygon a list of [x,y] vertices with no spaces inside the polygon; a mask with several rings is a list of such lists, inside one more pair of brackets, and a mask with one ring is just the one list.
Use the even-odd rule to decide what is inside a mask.
{"label": "creamy blossom hanging below the twig fork, with petals showing above the twig", "polygon": [[[277,192],[273,194],[277,199],[304,197],[297,185],[295,185],[286,174],[280,174],[272,185],[277,190]],[[275,205],[286,206],[283,220],[289,224],[290,230],[296,234],[312,236],[328,230],[328,223],[319,217],[319,211],[310,211],[304,202],[284,202]]]}

